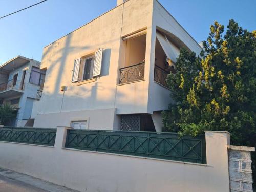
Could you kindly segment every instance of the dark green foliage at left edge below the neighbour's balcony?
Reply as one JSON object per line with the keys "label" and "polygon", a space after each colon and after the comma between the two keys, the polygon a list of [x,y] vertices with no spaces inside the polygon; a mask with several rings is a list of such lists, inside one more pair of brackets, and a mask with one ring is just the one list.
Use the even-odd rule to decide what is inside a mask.
{"label": "dark green foliage at left edge below the neighbour's balcony", "polygon": [[6,124],[17,117],[18,109],[9,104],[0,106],[0,124]]}

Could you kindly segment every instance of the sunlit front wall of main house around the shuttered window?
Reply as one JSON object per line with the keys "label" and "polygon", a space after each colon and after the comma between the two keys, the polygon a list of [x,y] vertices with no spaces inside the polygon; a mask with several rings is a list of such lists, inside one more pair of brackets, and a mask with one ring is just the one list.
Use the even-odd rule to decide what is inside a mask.
{"label": "sunlit front wall of main house around the shuttered window", "polygon": [[[47,114],[59,113],[61,104],[62,112],[90,113],[90,110],[116,108],[118,114],[147,113],[148,80],[118,87],[117,78],[121,38],[150,28],[152,7],[152,0],[127,1],[44,48],[41,68],[47,68],[47,73],[42,100],[33,106],[35,127],[43,123],[39,122],[40,119],[47,121]],[[149,42],[146,42],[146,60],[150,53]],[[104,48],[102,75],[90,83],[72,83],[74,59],[98,48]],[[148,79],[147,61],[145,65],[145,79]],[[64,97],[61,86],[68,87]],[[60,118],[65,118],[64,115]],[[60,119],[55,119],[53,124],[60,122]]]}

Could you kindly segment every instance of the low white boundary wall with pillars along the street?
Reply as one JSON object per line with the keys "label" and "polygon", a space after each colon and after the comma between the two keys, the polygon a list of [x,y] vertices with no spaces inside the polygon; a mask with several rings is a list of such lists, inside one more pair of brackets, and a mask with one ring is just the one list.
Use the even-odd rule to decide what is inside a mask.
{"label": "low white boundary wall with pillars along the street", "polygon": [[207,165],[0,142],[0,166],[80,191],[229,192],[227,132],[206,132]]}

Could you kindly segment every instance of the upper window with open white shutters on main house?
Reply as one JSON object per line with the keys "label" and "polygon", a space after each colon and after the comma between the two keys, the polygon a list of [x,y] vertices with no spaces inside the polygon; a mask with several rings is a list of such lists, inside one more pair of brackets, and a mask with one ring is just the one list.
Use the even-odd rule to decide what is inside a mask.
{"label": "upper window with open white shutters on main house", "polygon": [[74,69],[72,82],[89,80],[101,74],[103,49],[95,52],[95,54],[76,59],[74,61]]}

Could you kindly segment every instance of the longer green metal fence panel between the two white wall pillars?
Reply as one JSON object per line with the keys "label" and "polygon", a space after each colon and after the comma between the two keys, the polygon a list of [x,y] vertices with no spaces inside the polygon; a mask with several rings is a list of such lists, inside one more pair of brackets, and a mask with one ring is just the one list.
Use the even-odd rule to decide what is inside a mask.
{"label": "longer green metal fence panel between the two white wall pillars", "polygon": [[65,147],[206,164],[204,135],[70,129]]}

